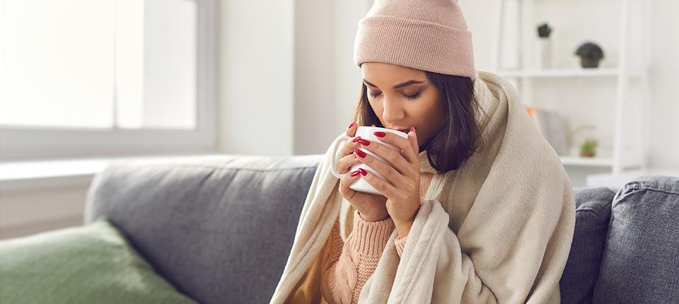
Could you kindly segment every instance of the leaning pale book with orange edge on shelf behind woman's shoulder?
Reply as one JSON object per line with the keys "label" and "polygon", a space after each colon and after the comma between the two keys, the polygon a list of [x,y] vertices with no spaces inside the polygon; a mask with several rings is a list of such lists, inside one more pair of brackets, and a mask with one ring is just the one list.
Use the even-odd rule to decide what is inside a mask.
{"label": "leaning pale book with orange edge on shelf behind woman's shoulder", "polygon": [[566,155],[568,153],[568,143],[559,113],[543,110],[538,107],[526,107],[526,112],[535,122],[542,137],[545,137],[547,142],[552,145],[554,151],[559,155]]}

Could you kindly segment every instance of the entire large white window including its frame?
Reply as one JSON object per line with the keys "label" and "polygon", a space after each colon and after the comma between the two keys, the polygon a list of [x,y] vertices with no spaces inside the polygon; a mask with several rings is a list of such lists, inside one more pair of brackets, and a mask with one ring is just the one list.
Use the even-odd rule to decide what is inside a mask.
{"label": "entire large white window including its frame", "polygon": [[211,151],[212,12],[0,0],[0,160]]}

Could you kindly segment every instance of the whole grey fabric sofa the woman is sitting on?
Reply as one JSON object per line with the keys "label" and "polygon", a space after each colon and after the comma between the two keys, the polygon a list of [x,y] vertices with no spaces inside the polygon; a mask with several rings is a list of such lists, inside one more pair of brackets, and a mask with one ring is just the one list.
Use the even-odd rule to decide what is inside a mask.
{"label": "whole grey fabric sofa the woman is sitting on", "polygon": [[[112,163],[85,223],[110,218],[178,291],[199,303],[268,303],[323,155],[211,155]],[[562,303],[679,303],[679,178],[575,188]]]}

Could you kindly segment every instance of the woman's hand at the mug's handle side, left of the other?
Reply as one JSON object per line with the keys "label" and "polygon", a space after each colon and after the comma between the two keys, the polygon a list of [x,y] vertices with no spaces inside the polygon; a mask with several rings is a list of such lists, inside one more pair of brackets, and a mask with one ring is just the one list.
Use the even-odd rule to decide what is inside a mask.
{"label": "woman's hand at the mug's handle side, left of the other", "polygon": [[[337,161],[337,171],[340,174],[347,173],[349,168],[352,168],[352,165],[361,163],[356,155],[352,153],[354,148],[359,147],[358,141],[361,139],[360,137],[354,137],[357,128],[358,126],[355,122],[352,122],[352,124],[349,125],[349,128],[347,128],[346,134],[347,136],[352,136],[352,138],[344,141],[344,145],[342,146],[342,151],[340,152],[342,153],[342,158]],[[366,170],[360,170],[367,173]],[[356,190],[349,188],[349,186],[358,180],[360,176],[359,171],[344,175],[344,177],[340,179],[340,194],[342,194],[342,197],[347,199],[347,201],[359,211],[361,218],[365,221],[382,221],[383,219],[388,218],[389,214],[385,204],[387,200],[386,197],[380,194],[357,192]]]}

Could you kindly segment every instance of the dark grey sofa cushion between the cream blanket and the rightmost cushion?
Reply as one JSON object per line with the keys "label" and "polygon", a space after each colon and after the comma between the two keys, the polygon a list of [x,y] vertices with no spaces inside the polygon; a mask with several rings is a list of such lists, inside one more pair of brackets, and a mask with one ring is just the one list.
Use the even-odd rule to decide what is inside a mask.
{"label": "dark grey sofa cushion between the cream blanket and the rightmost cushion", "polygon": [[564,274],[562,303],[590,303],[610,221],[615,192],[607,187],[576,188],[575,232]]}

